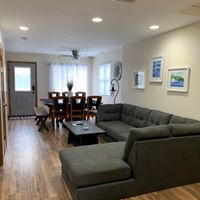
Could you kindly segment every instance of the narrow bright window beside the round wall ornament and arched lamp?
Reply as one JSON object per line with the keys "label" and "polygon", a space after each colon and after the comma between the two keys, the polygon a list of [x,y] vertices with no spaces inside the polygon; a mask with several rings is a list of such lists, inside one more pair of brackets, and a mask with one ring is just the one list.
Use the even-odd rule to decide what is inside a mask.
{"label": "narrow bright window beside the round wall ornament and arched lamp", "polygon": [[110,95],[111,63],[99,66],[99,93]]}

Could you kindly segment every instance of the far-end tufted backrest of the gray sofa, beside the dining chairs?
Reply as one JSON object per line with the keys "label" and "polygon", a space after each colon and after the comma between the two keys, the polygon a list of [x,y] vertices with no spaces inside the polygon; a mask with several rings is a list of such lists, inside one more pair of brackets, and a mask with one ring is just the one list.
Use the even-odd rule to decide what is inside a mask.
{"label": "far-end tufted backrest of the gray sofa, beside the dining chairs", "polygon": [[121,120],[122,104],[102,104],[97,111],[96,122]]}

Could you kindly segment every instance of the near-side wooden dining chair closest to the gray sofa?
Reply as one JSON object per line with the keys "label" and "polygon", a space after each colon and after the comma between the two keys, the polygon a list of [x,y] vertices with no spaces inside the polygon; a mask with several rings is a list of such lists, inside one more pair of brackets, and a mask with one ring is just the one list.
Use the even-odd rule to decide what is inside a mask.
{"label": "near-side wooden dining chair closest to the gray sofa", "polygon": [[87,97],[87,120],[90,117],[96,117],[97,110],[101,104],[102,96],[88,96]]}

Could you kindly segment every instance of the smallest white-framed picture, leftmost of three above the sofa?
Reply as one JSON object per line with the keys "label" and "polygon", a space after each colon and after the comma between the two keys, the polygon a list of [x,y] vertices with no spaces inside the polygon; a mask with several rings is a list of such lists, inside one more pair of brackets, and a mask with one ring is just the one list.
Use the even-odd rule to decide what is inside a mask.
{"label": "smallest white-framed picture, leftmost of three above the sofa", "polygon": [[145,88],[145,72],[137,71],[133,72],[133,88],[144,89]]}

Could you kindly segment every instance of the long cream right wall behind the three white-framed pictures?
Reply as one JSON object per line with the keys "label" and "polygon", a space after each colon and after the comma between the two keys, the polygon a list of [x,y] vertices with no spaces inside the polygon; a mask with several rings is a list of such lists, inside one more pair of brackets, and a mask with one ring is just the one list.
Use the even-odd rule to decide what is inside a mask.
{"label": "long cream right wall behind the three white-framed pictures", "polygon": [[[163,83],[149,82],[150,61],[164,56]],[[170,67],[191,69],[189,92],[167,92]],[[132,73],[146,71],[145,90],[133,89]],[[130,44],[123,48],[122,101],[200,120],[200,23]]]}

